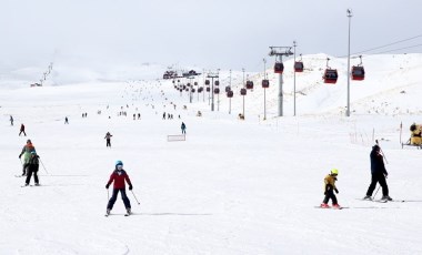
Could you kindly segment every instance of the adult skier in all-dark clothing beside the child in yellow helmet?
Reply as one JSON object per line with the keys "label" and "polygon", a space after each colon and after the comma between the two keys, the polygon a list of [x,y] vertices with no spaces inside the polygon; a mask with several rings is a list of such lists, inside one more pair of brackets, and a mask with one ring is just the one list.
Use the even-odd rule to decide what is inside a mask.
{"label": "adult skier in all-dark clothing beside the child in yellow helmet", "polygon": [[371,159],[371,184],[368,187],[366,195],[363,197],[364,200],[372,200],[372,193],[375,190],[376,183],[380,183],[382,187],[382,198],[384,201],[392,201],[389,196],[389,186],[386,185],[386,176],[389,173],[385,170],[384,157],[381,153],[381,147],[375,144],[372,146],[372,151],[370,154]]}

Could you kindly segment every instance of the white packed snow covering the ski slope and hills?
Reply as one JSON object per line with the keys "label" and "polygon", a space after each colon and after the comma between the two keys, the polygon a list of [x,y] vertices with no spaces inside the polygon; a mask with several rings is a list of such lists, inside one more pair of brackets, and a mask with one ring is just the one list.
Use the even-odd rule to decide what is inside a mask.
{"label": "white packed snow covering the ski slope and hills", "polygon": [[[86,79],[76,82],[74,69],[54,63],[53,75],[36,88],[29,86],[37,81],[34,68],[4,73],[0,254],[422,254],[422,151],[401,145],[409,126],[422,123],[422,55],[364,58],[366,78],[351,81],[349,118],[346,60],[332,58],[339,81],[324,84],[325,58],[303,57],[295,116],[291,60],[284,63],[280,118],[278,76],[267,70],[263,120],[263,73],[248,73],[254,90],[244,98],[244,121],[238,119],[239,71],[231,72],[234,98],[215,95],[215,111],[208,93],[192,94],[190,103],[171,80],[134,79],[137,69],[120,68],[114,76],[108,71],[102,79],[79,71],[74,75]],[[229,75],[220,72],[222,92]],[[202,85],[204,79],[194,81]],[[164,112],[173,119],[163,120]],[[133,120],[138,113],[141,120]],[[187,140],[168,142],[181,134],[182,122]],[[27,136],[18,135],[21,123]],[[14,176],[27,139],[41,159],[39,187],[21,187],[24,180]],[[370,184],[375,140],[398,202],[358,200]],[[120,196],[104,217],[105,184],[117,160],[133,183],[129,217]],[[334,167],[345,208],[315,208]]]}

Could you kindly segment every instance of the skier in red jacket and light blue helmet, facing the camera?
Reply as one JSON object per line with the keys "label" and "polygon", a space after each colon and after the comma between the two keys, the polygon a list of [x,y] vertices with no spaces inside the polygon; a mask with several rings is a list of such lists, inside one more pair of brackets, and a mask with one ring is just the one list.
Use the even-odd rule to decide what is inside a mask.
{"label": "skier in red jacket and light blue helmet, facing the camera", "polygon": [[115,170],[113,173],[110,175],[110,180],[105,185],[105,188],[109,188],[110,184],[114,182],[113,184],[113,194],[107,205],[107,215],[110,214],[110,211],[113,208],[113,205],[115,203],[115,200],[118,198],[118,194],[120,192],[124,207],[127,210],[128,215],[131,214],[131,206],[130,206],[130,201],[125,194],[125,182],[129,184],[129,191],[132,191],[133,186],[132,183],[130,182],[129,175],[127,172],[123,170],[123,162],[117,161],[115,162]]}

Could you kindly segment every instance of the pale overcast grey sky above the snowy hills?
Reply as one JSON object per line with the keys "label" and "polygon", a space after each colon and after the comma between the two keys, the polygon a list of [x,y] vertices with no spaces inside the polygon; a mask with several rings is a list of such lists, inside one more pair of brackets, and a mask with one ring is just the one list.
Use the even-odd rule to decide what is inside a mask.
{"label": "pale overcast grey sky above the snowy hills", "polygon": [[[270,45],[351,51],[422,34],[420,0],[0,0],[0,64],[153,62],[262,70]],[[422,37],[386,51],[422,44]],[[400,52],[421,52],[422,47]],[[372,52],[369,52],[372,53]],[[270,60],[269,61],[273,61]]]}

